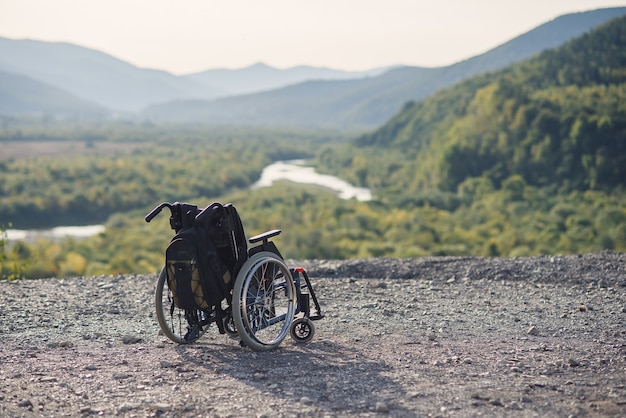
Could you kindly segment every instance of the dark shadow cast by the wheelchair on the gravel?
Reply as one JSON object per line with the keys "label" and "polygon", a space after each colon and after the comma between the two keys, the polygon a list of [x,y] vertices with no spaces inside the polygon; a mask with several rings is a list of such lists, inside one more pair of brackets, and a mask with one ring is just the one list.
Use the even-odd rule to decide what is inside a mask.
{"label": "dark shadow cast by the wheelchair on the gravel", "polygon": [[[263,399],[269,395],[292,412],[308,409],[331,415],[388,411],[391,415],[417,415],[398,403],[407,396],[406,389],[386,375],[389,367],[384,362],[368,358],[354,346],[330,340],[307,344],[287,341],[268,352],[241,348],[235,339],[225,344],[208,341],[178,346],[176,351],[188,366],[204,368],[215,374],[216,380],[224,376],[243,382],[260,392]],[[241,390],[240,385],[236,387]],[[235,397],[245,399],[248,392],[253,391]]]}

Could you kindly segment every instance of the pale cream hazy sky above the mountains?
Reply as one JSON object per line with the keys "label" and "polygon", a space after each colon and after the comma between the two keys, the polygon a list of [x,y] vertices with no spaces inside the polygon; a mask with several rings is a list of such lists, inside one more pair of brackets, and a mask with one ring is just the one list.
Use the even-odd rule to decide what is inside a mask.
{"label": "pale cream hazy sky above the mountains", "polygon": [[0,37],[62,41],[187,74],[257,62],[442,66],[603,0],[0,0]]}

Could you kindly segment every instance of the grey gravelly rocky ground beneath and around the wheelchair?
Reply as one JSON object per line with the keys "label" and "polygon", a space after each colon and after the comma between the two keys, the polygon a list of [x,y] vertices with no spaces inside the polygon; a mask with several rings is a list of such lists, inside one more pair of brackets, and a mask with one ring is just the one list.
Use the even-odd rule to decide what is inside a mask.
{"label": "grey gravelly rocky ground beneath and around the wheelchair", "polygon": [[626,416],[626,254],[297,264],[326,317],[266,353],[166,340],[156,275],[0,282],[0,416]]}

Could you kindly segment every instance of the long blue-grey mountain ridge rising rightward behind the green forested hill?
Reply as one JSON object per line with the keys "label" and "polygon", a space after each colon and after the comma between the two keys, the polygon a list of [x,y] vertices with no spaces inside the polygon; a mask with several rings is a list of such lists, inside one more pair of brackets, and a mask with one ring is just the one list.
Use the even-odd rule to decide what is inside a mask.
{"label": "long blue-grey mountain ridge rising rightward behind the green forested hill", "polygon": [[448,67],[403,67],[363,79],[307,81],[274,91],[210,102],[177,101],[151,106],[143,115],[178,122],[371,129],[388,120],[409,100],[426,98],[467,77],[503,68],[557,47],[624,14],[626,7],[564,15],[485,54]]}

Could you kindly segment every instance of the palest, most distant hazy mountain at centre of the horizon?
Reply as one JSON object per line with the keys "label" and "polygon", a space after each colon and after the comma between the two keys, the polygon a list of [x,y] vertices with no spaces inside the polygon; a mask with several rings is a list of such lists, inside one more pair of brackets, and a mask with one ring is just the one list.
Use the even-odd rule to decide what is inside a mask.
{"label": "palest, most distant hazy mountain at centre of the horizon", "polygon": [[371,71],[340,71],[324,67],[298,66],[279,70],[263,63],[237,70],[212,69],[189,74],[183,78],[208,85],[220,86],[228,95],[242,95],[279,89],[308,80],[342,80],[371,77],[384,73],[387,68]]}

